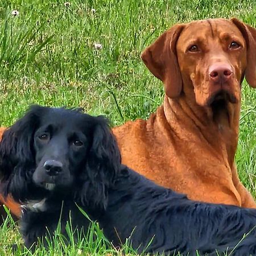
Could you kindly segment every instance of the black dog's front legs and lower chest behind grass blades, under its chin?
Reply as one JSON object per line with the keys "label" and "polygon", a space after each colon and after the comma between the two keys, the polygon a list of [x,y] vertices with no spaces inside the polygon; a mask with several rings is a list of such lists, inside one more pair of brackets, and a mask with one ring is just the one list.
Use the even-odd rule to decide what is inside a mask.
{"label": "black dog's front legs and lower chest behind grass blades, under its chin", "polygon": [[[64,204],[63,207],[57,204],[50,205],[49,210],[52,210],[51,212],[32,212],[30,209],[24,209],[20,220],[20,233],[24,239],[24,245],[27,248],[34,247],[40,242],[44,247],[49,247],[48,241],[52,241],[58,224],[60,224],[61,235],[66,238],[64,242],[69,243],[66,225],[71,220],[71,232],[75,242],[79,241],[80,234],[84,234],[85,236],[88,232],[90,222],[80,212],[77,205],[69,202],[67,205]],[[54,207],[55,209],[53,210]]]}

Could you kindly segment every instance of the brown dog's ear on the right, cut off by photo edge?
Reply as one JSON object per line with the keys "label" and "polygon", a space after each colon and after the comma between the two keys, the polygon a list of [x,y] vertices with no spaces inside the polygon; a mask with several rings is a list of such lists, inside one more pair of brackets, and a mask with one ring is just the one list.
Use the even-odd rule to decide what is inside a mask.
{"label": "brown dog's ear on the right, cut off by photo edge", "polygon": [[256,88],[256,30],[236,18],[231,20],[238,27],[246,40],[247,65],[245,79],[251,87]]}

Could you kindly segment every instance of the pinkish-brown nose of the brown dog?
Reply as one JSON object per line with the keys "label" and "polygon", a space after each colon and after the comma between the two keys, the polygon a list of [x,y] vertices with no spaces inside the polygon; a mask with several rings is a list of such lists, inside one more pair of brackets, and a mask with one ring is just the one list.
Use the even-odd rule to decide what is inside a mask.
{"label": "pinkish-brown nose of the brown dog", "polygon": [[209,77],[214,82],[226,82],[232,79],[232,75],[232,68],[229,64],[216,63],[209,67]]}

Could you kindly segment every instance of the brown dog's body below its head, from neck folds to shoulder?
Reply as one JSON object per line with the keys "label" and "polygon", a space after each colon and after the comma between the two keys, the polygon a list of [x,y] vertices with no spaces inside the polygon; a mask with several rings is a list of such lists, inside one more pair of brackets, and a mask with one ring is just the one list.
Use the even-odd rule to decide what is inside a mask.
{"label": "brown dog's body below its head, from neck folds to shoulder", "polygon": [[190,199],[255,207],[234,165],[238,122],[220,132],[206,113],[193,110],[185,98],[166,96],[147,121],[115,127],[122,162]]}

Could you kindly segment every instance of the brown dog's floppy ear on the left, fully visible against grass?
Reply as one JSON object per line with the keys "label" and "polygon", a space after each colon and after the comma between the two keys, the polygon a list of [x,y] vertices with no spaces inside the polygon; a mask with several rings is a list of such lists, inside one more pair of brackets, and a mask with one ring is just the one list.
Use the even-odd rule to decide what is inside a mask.
{"label": "brown dog's floppy ear on the left, fully visible against grass", "polygon": [[142,60],[150,72],[164,83],[166,95],[175,98],[180,95],[182,79],[176,56],[176,43],[184,24],[176,24],[164,32],[142,53]]}

